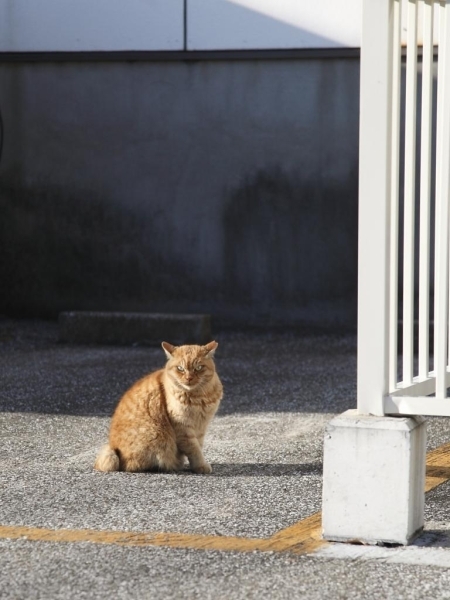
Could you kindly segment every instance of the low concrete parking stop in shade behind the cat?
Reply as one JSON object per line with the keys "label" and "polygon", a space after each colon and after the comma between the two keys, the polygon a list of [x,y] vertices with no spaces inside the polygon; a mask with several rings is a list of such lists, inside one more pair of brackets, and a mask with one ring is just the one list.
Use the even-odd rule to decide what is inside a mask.
{"label": "low concrete parking stop in shade behind the cat", "polygon": [[205,344],[211,341],[209,315],[63,312],[59,339],[75,344]]}

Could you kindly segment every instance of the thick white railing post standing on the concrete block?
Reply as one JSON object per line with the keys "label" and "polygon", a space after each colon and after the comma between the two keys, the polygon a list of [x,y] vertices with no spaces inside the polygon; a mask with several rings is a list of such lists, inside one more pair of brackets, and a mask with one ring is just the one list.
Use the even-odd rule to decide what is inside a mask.
{"label": "thick white railing post standing on the concrete block", "polygon": [[392,0],[365,0],[361,47],[358,413],[383,415],[389,391]]}

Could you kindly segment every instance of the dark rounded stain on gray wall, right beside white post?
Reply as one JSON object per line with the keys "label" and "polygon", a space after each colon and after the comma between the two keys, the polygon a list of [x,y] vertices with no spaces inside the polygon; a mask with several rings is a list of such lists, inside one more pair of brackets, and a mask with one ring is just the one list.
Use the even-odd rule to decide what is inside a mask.
{"label": "dark rounded stain on gray wall, right beside white post", "polygon": [[283,311],[298,320],[302,307],[343,301],[345,319],[356,319],[357,187],[356,169],[345,189],[305,185],[279,168],[247,178],[225,210],[234,301],[275,320]]}

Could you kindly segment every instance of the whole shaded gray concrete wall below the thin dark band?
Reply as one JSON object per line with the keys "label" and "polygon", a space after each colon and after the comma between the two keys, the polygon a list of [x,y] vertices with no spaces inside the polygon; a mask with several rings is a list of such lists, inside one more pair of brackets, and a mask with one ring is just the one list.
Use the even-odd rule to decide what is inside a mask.
{"label": "whole shaded gray concrete wall below the thin dark band", "polygon": [[359,61],[0,63],[3,314],[354,325]]}

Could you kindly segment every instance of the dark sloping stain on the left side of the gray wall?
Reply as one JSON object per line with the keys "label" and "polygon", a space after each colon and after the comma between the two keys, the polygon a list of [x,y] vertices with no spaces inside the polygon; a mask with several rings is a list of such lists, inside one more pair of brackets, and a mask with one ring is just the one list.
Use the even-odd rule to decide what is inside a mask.
{"label": "dark sloping stain on the left side of the gray wall", "polygon": [[152,245],[148,219],[92,192],[0,187],[0,280],[5,314],[154,310],[192,288]]}

